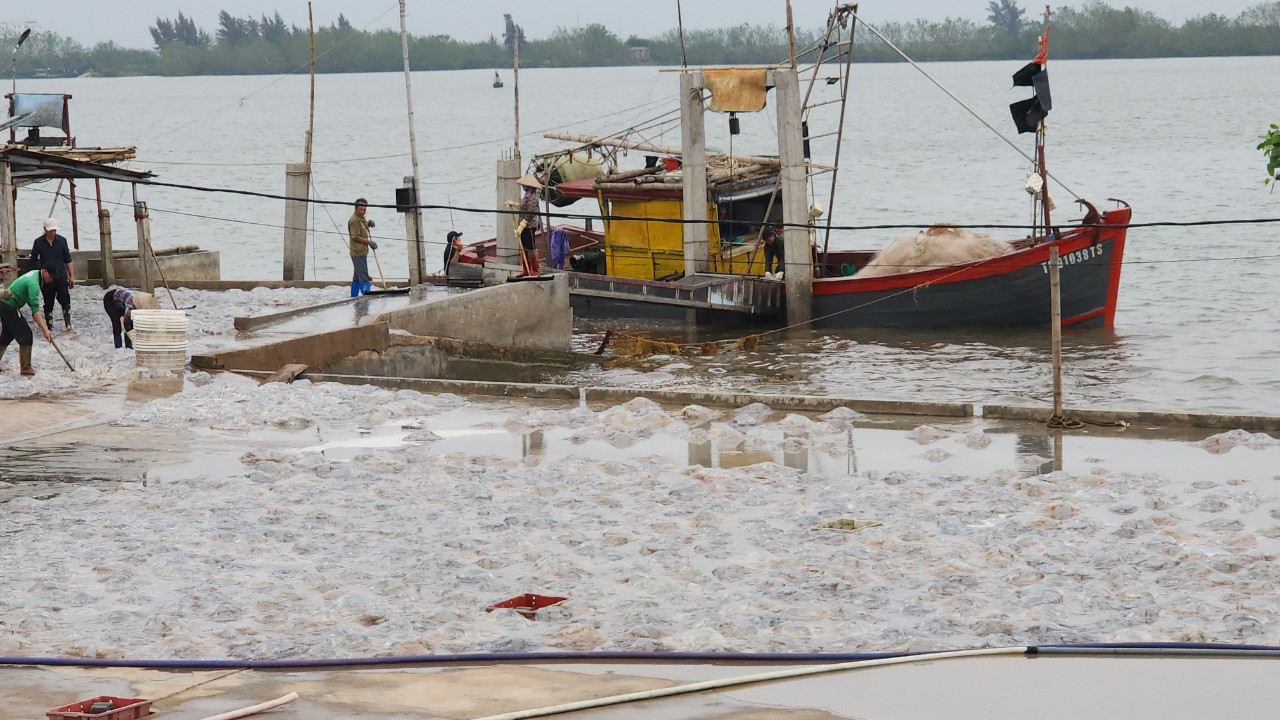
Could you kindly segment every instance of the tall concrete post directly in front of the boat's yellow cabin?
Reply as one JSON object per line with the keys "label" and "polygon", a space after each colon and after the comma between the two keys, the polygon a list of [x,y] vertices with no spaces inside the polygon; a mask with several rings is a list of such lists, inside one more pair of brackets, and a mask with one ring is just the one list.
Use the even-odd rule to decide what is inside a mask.
{"label": "tall concrete post directly in front of the boat's yellow cabin", "polygon": [[[684,219],[707,220],[707,126],[703,118],[703,73],[680,73],[680,151],[684,173]],[[686,223],[685,277],[705,272],[710,246],[705,223]]]}

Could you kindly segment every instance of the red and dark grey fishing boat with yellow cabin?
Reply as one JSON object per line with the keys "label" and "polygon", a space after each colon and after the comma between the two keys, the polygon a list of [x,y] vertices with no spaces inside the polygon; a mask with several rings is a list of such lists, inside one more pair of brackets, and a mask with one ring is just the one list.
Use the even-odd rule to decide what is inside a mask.
{"label": "red and dark grey fishing boat with yellow cabin", "polygon": [[[850,20],[860,22],[856,6],[837,6],[822,47],[847,46],[841,33],[849,27],[851,37]],[[1042,47],[1047,49],[1047,41],[1046,17]],[[812,87],[820,82],[836,85],[841,104],[845,101],[851,63],[842,55],[845,50],[836,53],[828,60],[835,60],[831,64],[838,68],[838,77],[826,77],[828,73],[822,70],[823,58],[819,56],[813,63],[810,91],[803,94],[804,97],[810,97]],[[932,243],[933,249],[941,249],[938,254],[931,255],[925,247],[909,263],[893,261],[892,246],[831,250],[832,231],[840,228],[832,224],[829,213],[826,224],[819,224],[818,218],[824,213],[814,205],[804,223],[812,268],[805,268],[804,263],[787,265],[788,274],[812,270],[812,279],[800,286],[812,290],[808,297],[792,295],[795,287],[785,291],[786,282],[780,282],[780,275],[765,274],[768,268],[763,266],[762,229],[782,225],[785,220],[780,158],[707,154],[708,209],[705,215],[698,214],[707,222],[704,269],[689,273],[685,263],[687,240],[682,237],[681,220],[689,222],[694,214],[684,205],[681,147],[612,136],[548,133],[547,137],[575,143],[566,154],[608,155],[613,150],[614,159],[617,149],[653,154],[645,168],[618,170],[611,165],[599,177],[577,179],[559,179],[544,172],[567,155],[541,155],[531,164],[530,170],[541,173],[539,177],[552,188],[549,192],[554,193],[557,206],[590,199],[598,202],[603,217],[603,229],[577,224],[553,229],[568,238],[568,254],[561,269],[570,274],[575,313],[600,319],[678,319],[691,309],[707,311],[703,318],[712,324],[742,314],[754,320],[782,322],[788,315],[788,302],[809,302],[812,307],[805,322],[818,328],[1043,327],[1051,319],[1050,264],[1056,252],[1061,269],[1062,327],[1112,327],[1130,208],[1116,201],[1117,208],[1100,211],[1092,202],[1076,199],[1084,210],[1080,220],[1053,220],[1047,188],[1055,178],[1044,163],[1043,119],[1052,106],[1047,51],[1042,49],[1032,63],[1018,70],[1014,83],[1033,90],[1030,99],[1011,105],[1011,114],[1019,132],[1036,133],[1034,155],[1023,152],[1006,138],[1032,161],[1025,187],[1034,199],[1029,232],[1007,242],[988,243],[995,250],[983,255],[956,260],[947,254],[947,246],[959,242],[955,238],[963,233],[933,227],[905,240],[919,246]],[[805,128],[809,110],[804,104],[795,108]],[[809,135],[805,131],[806,141]],[[833,173],[838,154],[837,140],[831,164],[819,165],[809,159],[806,149],[805,169],[810,182],[822,169]],[[833,187],[831,200],[835,200]],[[796,225],[794,219],[786,224]],[[539,252],[544,258],[550,256],[550,234],[539,238]],[[826,240],[819,245],[820,234]],[[467,249],[461,260],[483,263],[493,258],[494,241],[489,243],[488,249],[483,243]]]}

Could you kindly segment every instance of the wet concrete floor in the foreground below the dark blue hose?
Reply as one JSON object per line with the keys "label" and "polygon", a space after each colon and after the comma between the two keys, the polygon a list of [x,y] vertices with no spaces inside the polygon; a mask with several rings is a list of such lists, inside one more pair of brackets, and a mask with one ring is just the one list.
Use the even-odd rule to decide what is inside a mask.
{"label": "wet concrete floor in the foreground below the dark blue hose", "polygon": [[[556,717],[598,720],[959,720],[1262,717],[1274,659],[1046,657],[914,660],[709,689]],[[517,711],[814,665],[741,662],[451,662],[320,670],[169,671],[0,667],[0,720],[33,720],[96,696],[148,698],[165,720],[201,720],[289,692],[260,717],[492,719]],[[526,715],[536,716],[536,715]],[[508,716],[509,717],[509,716]]]}

